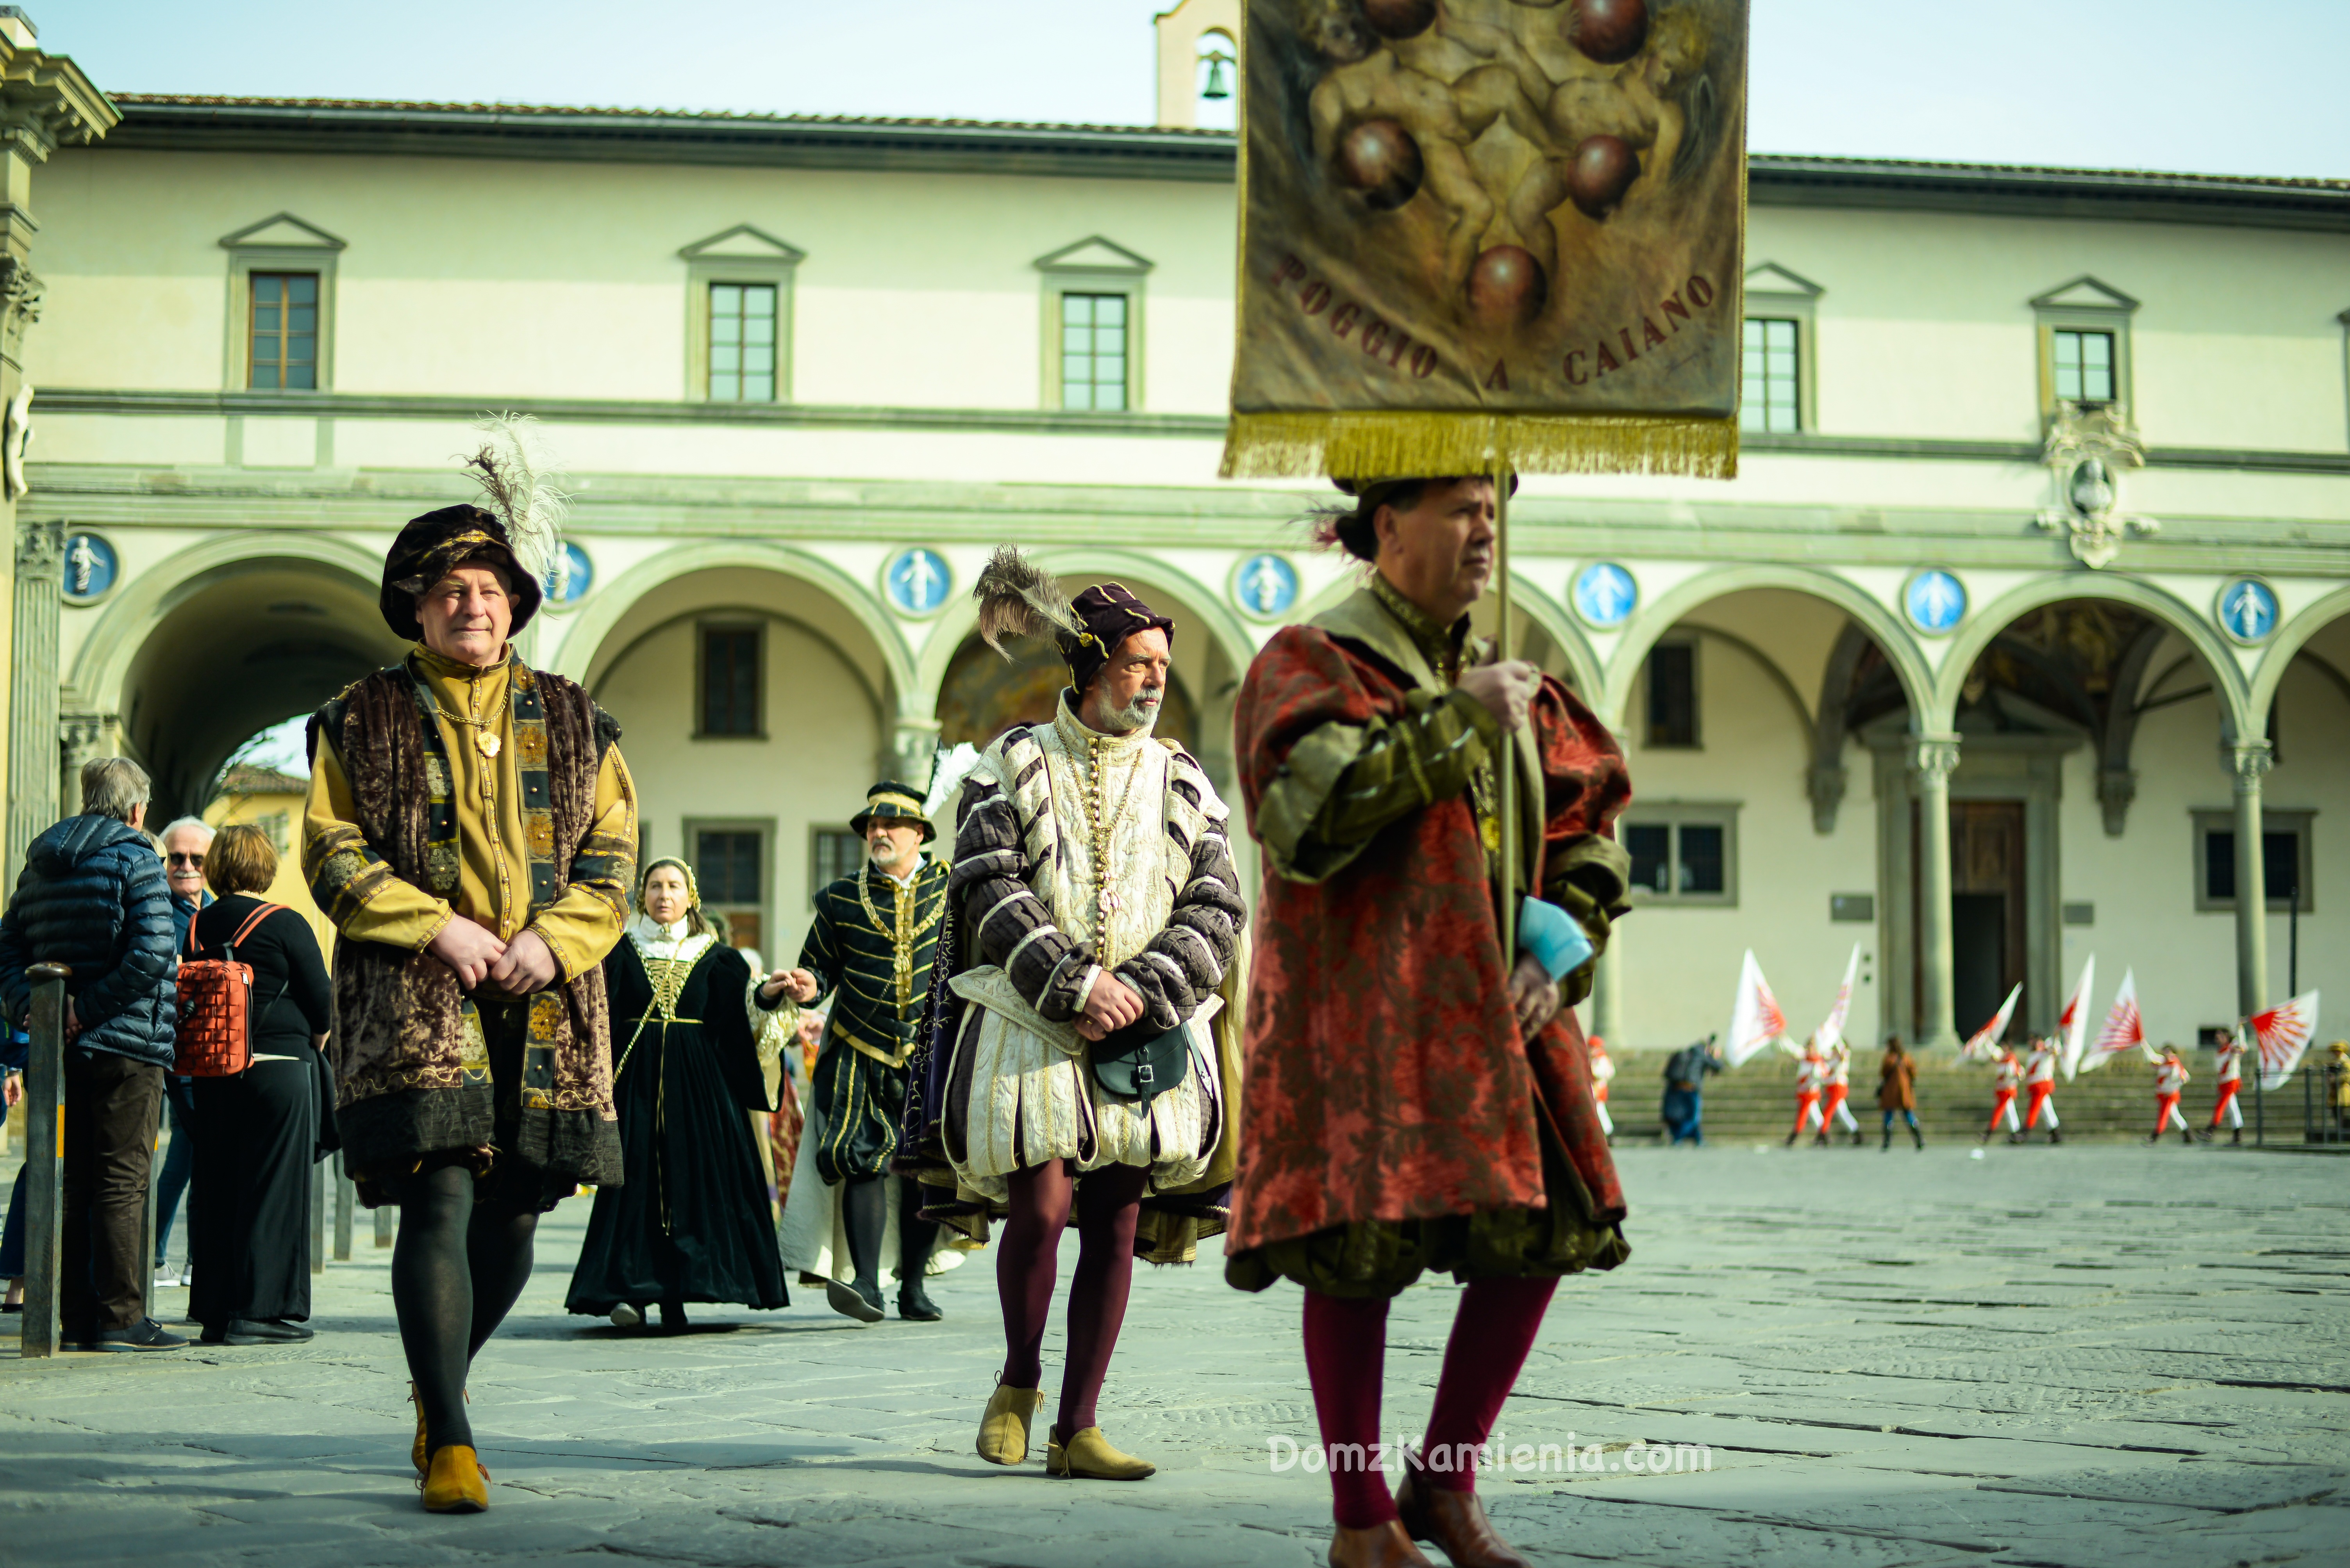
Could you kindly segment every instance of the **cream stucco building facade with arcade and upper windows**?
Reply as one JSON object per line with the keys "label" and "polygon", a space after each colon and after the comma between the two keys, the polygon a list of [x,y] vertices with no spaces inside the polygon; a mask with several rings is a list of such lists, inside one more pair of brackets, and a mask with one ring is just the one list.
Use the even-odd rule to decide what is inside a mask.
{"label": "cream stucco building facade with arcade and upper windows", "polygon": [[[526,653],[625,725],[651,852],[757,864],[778,955],[865,784],[994,711],[966,599],[994,545],[1175,613],[1220,779],[1253,650],[1349,589],[1292,526],[1328,493],[1215,479],[1229,134],[122,110],[42,171],[21,514],[115,563],[59,615],[59,732],[14,735],[59,768],[118,746],[179,810],[397,657],[381,552],[468,495],[494,408],[564,451],[590,570]],[[2287,915],[2204,887],[2200,836],[2263,807],[2308,845],[2298,984],[2350,998],[2350,188],[1758,157],[1746,251],[1748,317],[1800,324],[1802,427],[1751,432],[1730,484],[1535,477],[1511,512],[1520,650],[1624,737],[1626,822],[1727,833],[1624,922],[1605,1030],[1718,1028],[1751,946],[1800,1033],[1859,944],[1854,1035],[1948,1040],[2014,981],[2044,1028],[2094,951],[2099,1005],[2131,967],[2188,1040],[2284,995]],[[254,275],[320,279],[315,387],[254,385]],[[773,289],[776,399],[710,399],[712,286]],[[1069,293],[1123,300],[1123,406],[1069,406]],[[2094,568],[2042,460],[2054,331],[2115,338],[2143,467],[2113,462],[2110,519],[2160,521]],[[1579,606],[1596,563],[1633,603]],[[2232,636],[2247,580],[2272,613]],[[757,714],[714,725],[721,655]],[[1659,678],[1687,681],[1661,723]]]}

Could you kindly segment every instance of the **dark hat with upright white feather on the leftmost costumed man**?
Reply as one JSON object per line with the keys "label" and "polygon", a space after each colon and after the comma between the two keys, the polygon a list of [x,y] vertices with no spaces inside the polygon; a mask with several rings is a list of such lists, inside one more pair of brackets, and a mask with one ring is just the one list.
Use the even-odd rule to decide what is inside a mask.
{"label": "dark hat with upright white feather on the leftmost costumed man", "polygon": [[508,575],[515,622],[508,636],[522,631],[538,613],[540,582],[562,552],[562,516],[571,498],[555,488],[555,465],[548,458],[538,420],[526,413],[501,413],[475,425],[482,448],[465,460],[465,472],[482,486],[489,507],[442,507],[411,519],[390,554],[383,556],[383,589],[376,596],[383,624],[397,636],[421,641],[416,596],[465,561],[489,561]]}

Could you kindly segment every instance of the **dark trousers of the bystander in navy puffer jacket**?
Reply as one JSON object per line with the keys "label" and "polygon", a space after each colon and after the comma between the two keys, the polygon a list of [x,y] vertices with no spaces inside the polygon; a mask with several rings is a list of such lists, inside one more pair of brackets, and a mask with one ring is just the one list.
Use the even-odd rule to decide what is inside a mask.
{"label": "dark trousers of the bystander in navy puffer jacket", "polygon": [[148,1171],[162,1068],[66,1047],[66,1235],[59,1326],[68,1343],[146,1317]]}

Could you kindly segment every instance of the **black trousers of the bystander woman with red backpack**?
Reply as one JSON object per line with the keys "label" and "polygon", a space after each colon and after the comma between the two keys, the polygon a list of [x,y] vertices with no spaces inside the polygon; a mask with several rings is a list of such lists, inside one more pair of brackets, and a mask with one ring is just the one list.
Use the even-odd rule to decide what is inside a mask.
{"label": "black trousers of the bystander woman with red backpack", "polygon": [[197,1131],[188,1317],[207,1329],[235,1317],[310,1317],[315,1068],[256,1061],[237,1077],[197,1077],[190,1087]]}

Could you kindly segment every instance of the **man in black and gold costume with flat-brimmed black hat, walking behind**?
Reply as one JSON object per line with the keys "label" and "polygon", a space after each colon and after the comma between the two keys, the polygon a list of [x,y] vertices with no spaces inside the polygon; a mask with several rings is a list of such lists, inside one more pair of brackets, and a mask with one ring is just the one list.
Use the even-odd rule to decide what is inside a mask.
{"label": "man in black and gold costume with flat-brimmed black hat, walking behind", "polygon": [[[921,850],[933,829],[912,784],[874,784],[848,826],[865,840],[867,864],[815,894],[815,925],[799,967],[785,976],[801,1007],[839,993],[815,1056],[799,1157],[822,1185],[792,1181],[785,1265],[818,1270],[820,1244],[830,1239],[832,1268],[822,1272],[834,1277],[825,1298],[858,1322],[879,1322],[881,1253],[895,1218],[898,1317],[926,1324],[940,1317],[921,1289],[938,1225],[921,1218],[921,1188],[912,1178],[886,1176],[898,1153],[907,1059],[931,1002],[947,869]],[[848,1282],[837,1277],[841,1242],[853,1268]]]}

